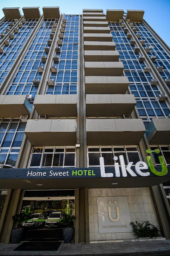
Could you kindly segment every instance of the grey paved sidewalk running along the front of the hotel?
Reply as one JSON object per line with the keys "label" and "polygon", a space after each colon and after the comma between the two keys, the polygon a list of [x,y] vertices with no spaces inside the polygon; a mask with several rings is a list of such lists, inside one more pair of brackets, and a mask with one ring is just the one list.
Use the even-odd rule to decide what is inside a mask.
{"label": "grey paved sidewalk running along the front of the hotel", "polygon": [[0,243],[0,256],[163,256],[170,255],[170,240],[64,244],[57,251],[13,251],[18,245]]}

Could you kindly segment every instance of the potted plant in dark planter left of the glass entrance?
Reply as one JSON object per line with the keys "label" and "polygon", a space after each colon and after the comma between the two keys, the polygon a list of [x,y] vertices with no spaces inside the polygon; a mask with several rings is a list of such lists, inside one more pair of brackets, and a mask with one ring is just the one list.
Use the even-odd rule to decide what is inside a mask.
{"label": "potted plant in dark planter left of the glass entrance", "polygon": [[11,233],[11,243],[12,244],[18,244],[21,240],[21,237],[23,235],[24,229],[21,228],[21,224],[24,221],[29,220],[30,214],[20,213],[12,216],[13,221],[17,222],[17,228],[12,229]]}

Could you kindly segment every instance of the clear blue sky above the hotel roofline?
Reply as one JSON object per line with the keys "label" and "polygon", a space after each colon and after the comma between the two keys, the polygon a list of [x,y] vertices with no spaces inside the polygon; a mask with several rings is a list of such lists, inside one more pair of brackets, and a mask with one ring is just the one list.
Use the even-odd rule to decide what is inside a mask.
{"label": "clear blue sky above the hotel roofline", "polygon": [[[159,34],[160,37],[170,46],[170,0],[47,0],[35,1],[29,0],[0,0],[0,18],[2,18],[4,7],[20,7],[21,12],[23,7],[39,6],[42,14],[43,6],[59,6],[60,13],[65,14],[80,14],[83,9],[127,9],[144,10],[144,19],[150,26]],[[22,12],[23,13],[23,12]]]}

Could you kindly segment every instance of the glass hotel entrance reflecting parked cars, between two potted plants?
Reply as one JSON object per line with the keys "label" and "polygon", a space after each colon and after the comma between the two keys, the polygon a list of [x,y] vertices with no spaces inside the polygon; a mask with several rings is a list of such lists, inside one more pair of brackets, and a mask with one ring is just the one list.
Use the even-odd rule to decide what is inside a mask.
{"label": "glass hotel entrance reflecting parked cars, between two potted plants", "polygon": [[28,219],[22,224],[22,240],[62,241],[66,227],[66,223],[62,223],[63,216],[74,215],[74,206],[74,190],[26,190],[21,213],[28,215]]}

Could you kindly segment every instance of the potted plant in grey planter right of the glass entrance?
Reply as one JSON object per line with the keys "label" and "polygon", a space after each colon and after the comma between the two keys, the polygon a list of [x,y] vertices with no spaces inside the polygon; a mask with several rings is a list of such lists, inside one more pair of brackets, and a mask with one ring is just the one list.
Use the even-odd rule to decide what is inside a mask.
{"label": "potted plant in grey planter right of the glass entrance", "polygon": [[67,224],[66,228],[63,228],[63,238],[65,244],[70,244],[72,241],[73,233],[74,233],[74,227],[71,226],[73,221],[75,220],[75,217],[71,214],[64,214],[63,218],[61,219],[60,223]]}

